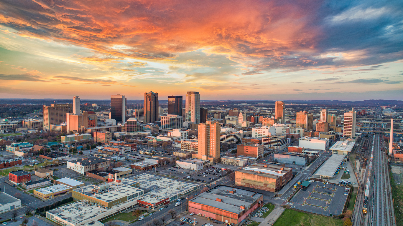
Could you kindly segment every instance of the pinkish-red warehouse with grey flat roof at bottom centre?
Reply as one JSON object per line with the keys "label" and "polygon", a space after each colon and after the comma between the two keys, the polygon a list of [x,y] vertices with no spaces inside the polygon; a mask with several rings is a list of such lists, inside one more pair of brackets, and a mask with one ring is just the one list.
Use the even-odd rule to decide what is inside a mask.
{"label": "pinkish-red warehouse with grey flat roof at bottom centre", "polygon": [[204,217],[239,224],[263,204],[262,193],[218,185],[190,199],[188,208]]}

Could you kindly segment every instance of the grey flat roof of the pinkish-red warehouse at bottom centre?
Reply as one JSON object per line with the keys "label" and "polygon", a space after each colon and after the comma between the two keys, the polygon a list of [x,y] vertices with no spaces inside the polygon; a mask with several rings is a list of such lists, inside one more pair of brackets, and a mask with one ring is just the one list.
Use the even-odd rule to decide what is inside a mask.
{"label": "grey flat roof of the pinkish-red warehouse at bottom centre", "polygon": [[[234,193],[230,193],[230,191],[234,191]],[[226,210],[231,213],[240,214],[243,211],[241,210],[241,205],[245,205],[245,209],[247,210],[253,202],[262,196],[262,193],[254,191],[218,185],[217,187],[190,199],[190,201]],[[217,201],[217,198],[222,199],[222,201]]]}

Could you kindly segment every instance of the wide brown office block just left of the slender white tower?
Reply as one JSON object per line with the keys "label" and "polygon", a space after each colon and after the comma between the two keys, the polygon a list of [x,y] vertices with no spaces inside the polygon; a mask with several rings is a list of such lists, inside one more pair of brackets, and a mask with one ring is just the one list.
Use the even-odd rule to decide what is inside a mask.
{"label": "wide brown office block just left of the slender white tower", "polygon": [[43,107],[44,130],[49,131],[50,125],[58,125],[66,121],[66,113],[73,112],[72,104],[51,104]]}

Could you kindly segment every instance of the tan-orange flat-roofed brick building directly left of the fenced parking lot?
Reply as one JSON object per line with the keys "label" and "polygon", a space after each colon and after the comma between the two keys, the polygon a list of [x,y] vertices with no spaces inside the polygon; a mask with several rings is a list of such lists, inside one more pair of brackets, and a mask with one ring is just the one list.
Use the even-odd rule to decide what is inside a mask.
{"label": "tan-orange flat-roofed brick building directly left of the fenced parking lot", "polygon": [[293,179],[293,169],[272,164],[253,164],[235,171],[235,185],[277,192]]}

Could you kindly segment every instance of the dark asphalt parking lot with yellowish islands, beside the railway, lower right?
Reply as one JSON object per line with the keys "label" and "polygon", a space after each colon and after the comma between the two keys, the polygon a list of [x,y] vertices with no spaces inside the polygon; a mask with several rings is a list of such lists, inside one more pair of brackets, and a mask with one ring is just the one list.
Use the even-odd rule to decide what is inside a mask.
{"label": "dark asphalt parking lot with yellowish islands, beside the railway, lower right", "polygon": [[312,182],[307,189],[300,189],[290,200],[298,210],[329,216],[340,215],[348,195],[345,186]]}

